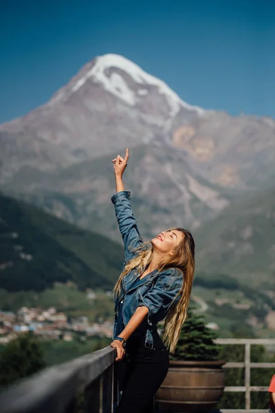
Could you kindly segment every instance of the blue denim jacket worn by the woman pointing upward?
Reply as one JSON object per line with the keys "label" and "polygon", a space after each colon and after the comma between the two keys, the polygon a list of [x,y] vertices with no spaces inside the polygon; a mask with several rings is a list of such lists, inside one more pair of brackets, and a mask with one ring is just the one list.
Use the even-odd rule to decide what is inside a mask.
{"label": "blue denim jacket worn by the woman pointing upward", "polygon": [[[141,246],[143,241],[131,209],[131,192],[120,191],[115,193],[111,201],[115,205],[115,215],[124,242],[123,271],[126,262],[135,255],[132,249]],[[157,270],[152,271],[134,283],[133,281],[136,277],[137,271],[134,268],[128,275],[122,278],[122,291],[119,296],[114,297],[115,322],[112,338],[120,335],[121,332],[117,331],[117,315],[119,303],[123,298],[122,318],[124,326],[129,322],[137,307],[146,306],[148,308],[147,319],[142,321],[142,324],[133,332],[133,335],[140,335],[141,332],[145,332],[144,345],[145,347],[153,348],[152,332],[156,330],[157,323],[165,319],[170,305],[172,303],[174,305],[178,301],[179,296],[176,300],[175,296],[182,286],[183,276],[178,268],[167,268],[161,272]]]}

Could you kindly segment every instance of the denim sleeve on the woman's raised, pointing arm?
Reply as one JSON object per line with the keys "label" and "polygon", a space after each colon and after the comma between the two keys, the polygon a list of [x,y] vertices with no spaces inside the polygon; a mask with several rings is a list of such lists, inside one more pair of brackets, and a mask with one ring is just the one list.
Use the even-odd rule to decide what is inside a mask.
{"label": "denim sleeve on the woman's raised, pointing arm", "polygon": [[133,216],[130,200],[130,191],[119,191],[111,197],[111,202],[115,205],[115,215],[124,242],[124,260],[126,262],[135,255],[132,249],[143,244],[140,231],[137,228],[137,220]]}

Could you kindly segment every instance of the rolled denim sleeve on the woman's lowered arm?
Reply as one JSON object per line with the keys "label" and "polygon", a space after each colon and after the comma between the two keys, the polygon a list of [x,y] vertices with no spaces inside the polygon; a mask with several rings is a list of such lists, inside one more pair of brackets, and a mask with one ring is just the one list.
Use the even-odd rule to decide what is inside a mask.
{"label": "rolled denim sleeve on the woman's lowered arm", "polygon": [[137,306],[146,306],[148,308],[148,319],[151,319],[152,316],[160,311],[165,317],[182,284],[183,275],[181,271],[173,268],[170,275],[167,272],[159,275],[155,285],[144,296],[139,295]]}

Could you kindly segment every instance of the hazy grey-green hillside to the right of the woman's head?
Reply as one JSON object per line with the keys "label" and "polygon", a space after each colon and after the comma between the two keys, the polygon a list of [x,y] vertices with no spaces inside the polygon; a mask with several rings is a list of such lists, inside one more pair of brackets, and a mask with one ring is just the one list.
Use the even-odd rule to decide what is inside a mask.
{"label": "hazy grey-green hillside to the right of the woman's head", "polygon": [[195,233],[197,269],[275,286],[275,190],[232,202]]}

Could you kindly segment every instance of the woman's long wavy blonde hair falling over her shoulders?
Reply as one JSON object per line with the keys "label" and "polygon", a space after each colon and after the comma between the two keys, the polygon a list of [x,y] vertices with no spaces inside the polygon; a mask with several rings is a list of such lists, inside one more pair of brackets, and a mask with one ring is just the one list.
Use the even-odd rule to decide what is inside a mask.
{"label": "woman's long wavy blonde hair falling over her shoulders", "polygon": [[[184,228],[171,228],[167,231],[173,230],[181,231],[181,233],[184,234],[184,239],[175,248],[172,257],[163,258],[157,265],[158,272],[167,268],[176,267],[184,277],[182,287],[177,294],[179,300],[175,306],[170,306],[164,322],[164,343],[172,354],[175,352],[181,326],[186,319],[195,271],[195,242],[191,233]],[[131,246],[129,248],[131,248]],[[134,268],[137,271],[137,276],[138,274],[144,273],[146,266],[152,260],[153,245],[151,241],[144,242],[141,246],[131,251],[135,253],[135,255],[129,262],[126,262],[118,282],[116,282],[113,288],[115,295],[120,295],[121,293],[123,277],[129,274]]]}

